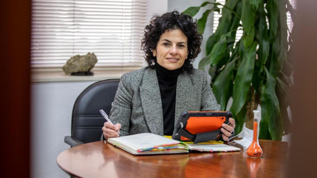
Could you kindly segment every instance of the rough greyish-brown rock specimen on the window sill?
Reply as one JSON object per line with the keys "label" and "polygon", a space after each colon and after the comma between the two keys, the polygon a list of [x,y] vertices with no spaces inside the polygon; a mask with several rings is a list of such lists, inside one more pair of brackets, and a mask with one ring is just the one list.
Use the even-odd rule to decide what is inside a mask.
{"label": "rough greyish-brown rock specimen on the window sill", "polygon": [[94,68],[97,61],[97,57],[94,53],[87,53],[86,55],[75,55],[67,60],[62,69],[66,74],[87,72]]}

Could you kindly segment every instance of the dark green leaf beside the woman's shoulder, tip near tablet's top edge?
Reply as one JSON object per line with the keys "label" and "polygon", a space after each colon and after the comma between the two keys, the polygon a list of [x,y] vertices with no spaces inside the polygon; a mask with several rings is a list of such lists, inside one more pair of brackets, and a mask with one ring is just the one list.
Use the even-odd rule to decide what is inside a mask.
{"label": "dark green leaf beside the woman's shoulder, tip near tablet's top edge", "polygon": [[213,92],[217,99],[218,104],[221,106],[221,110],[225,111],[228,100],[232,96],[233,88],[233,72],[232,69],[235,66],[235,60],[229,62],[220,73],[220,75],[215,80],[213,87]]}

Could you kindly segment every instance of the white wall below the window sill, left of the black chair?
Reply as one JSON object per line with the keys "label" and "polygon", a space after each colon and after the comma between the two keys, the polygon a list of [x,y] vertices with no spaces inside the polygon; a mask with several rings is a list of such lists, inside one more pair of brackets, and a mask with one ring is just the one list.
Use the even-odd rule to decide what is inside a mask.
{"label": "white wall below the window sill, left of the black chair", "polygon": [[71,115],[77,96],[96,81],[43,82],[31,85],[31,177],[69,177],[56,158],[70,148]]}

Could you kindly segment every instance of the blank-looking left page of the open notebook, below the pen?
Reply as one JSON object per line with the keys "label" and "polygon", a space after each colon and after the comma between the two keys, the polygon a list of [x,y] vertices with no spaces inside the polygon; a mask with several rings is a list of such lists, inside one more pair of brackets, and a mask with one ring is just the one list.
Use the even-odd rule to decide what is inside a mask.
{"label": "blank-looking left page of the open notebook, below the pen", "polygon": [[146,149],[158,145],[179,143],[176,140],[165,138],[152,133],[141,133],[124,137],[109,138],[108,141],[120,145],[129,145],[129,147],[134,147],[136,149]]}

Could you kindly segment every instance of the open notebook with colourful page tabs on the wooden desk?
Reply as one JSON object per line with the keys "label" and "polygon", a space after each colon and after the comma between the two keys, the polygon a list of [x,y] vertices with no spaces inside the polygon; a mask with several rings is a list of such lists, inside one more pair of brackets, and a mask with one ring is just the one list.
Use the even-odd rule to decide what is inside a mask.
{"label": "open notebook with colourful page tabs on the wooden desk", "polygon": [[188,153],[189,150],[210,152],[240,150],[240,148],[226,144],[186,144],[152,133],[108,138],[108,143],[133,155]]}

